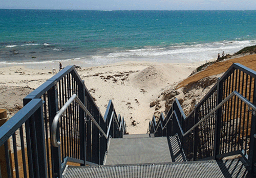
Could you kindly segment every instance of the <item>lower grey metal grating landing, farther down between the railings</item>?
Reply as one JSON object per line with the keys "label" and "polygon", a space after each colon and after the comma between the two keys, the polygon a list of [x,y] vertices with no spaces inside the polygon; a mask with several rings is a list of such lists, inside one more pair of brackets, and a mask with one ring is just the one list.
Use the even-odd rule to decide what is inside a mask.
{"label": "lower grey metal grating landing, farther down between the railings", "polygon": [[172,162],[168,139],[130,138],[111,139],[104,165]]}

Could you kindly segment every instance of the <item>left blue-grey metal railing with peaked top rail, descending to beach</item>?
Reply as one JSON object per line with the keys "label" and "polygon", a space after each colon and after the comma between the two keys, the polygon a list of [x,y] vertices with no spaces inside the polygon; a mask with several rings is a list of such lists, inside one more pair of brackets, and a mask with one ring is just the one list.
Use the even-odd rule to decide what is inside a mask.
{"label": "left blue-grey metal railing with peaked top rail, descending to beach", "polygon": [[[61,144],[59,147],[55,147],[50,141],[50,128],[53,119],[73,94],[79,98],[90,114],[84,112],[75,101],[72,101],[57,124],[56,139]],[[40,114],[31,108],[31,102],[34,103],[35,100],[41,102]],[[32,114],[32,118],[28,116],[25,118],[27,121],[22,122],[24,119],[20,117],[21,112]],[[33,112],[36,113],[34,114],[36,117]],[[114,116],[116,118],[111,118],[112,113],[113,118]],[[24,108],[0,128],[0,133],[3,130],[10,130],[12,131],[11,134],[15,135],[17,129],[14,130],[12,126],[8,125],[13,122],[14,118],[18,123],[24,124],[25,132],[24,130],[16,131],[16,134],[24,135],[24,137],[20,136],[20,141],[24,144],[21,145],[21,149],[18,147],[22,154],[25,152],[22,159],[16,154],[16,146],[14,146],[16,137],[12,139],[15,143],[12,146],[15,173],[20,170],[19,167],[23,167],[23,172],[19,172],[21,177],[61,177],[61,173],[69,161],[81,165],[103,164],[108,139],[102,137],[96,123],[92,122],[89,117],[93,117],[105,133],[109,129],[110,136],[113,138],[122,137],[122,134],[125,133],[125,122],[120,119],[120,116],[116,116],[112,101],[109,102],[105,116],[102,117],[99,108],[75,68],[67,66],[26,96]],[[113,121],[110,124],[111,119]],[[38,122],[42,126],[39,125],[38,127]],[[109,128],[109,124],[111,128]],[[41,140],[38,140],[39,138]],[[1,145],[7,144],[6,137],[1,137],[0,141]],[[41,174],[41,171],[44,171],[45,174]]]}

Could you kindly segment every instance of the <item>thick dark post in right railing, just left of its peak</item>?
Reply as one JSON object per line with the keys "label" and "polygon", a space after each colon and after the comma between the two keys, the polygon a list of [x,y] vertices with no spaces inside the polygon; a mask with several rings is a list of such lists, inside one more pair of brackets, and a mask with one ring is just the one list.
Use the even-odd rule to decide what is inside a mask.
{"label": "thick dark post in right railing, just left of its peak", "polygon": [[[218,106],[223,97],[223,81],[218,79],[217,84],[217,99],[216,106]],[[221,137],[221,122],[222,122],[222,108],[216,111],[216,122],[215,122],[215,139],[214,139],[214,158],[217,159],[217,155],[220,153],[220,137]]]}

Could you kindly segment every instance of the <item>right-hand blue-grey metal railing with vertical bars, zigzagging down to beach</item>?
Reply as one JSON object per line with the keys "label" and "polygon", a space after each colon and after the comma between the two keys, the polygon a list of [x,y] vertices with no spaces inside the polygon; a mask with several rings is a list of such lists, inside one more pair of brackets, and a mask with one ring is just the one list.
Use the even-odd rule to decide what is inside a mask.
{"label": "right-hand blue-grey metal railing with vertical bars, zigzagging down to beach", "polygon": [[[188,116],[175,99],[165,118],[161,116],[156,122],[153,117],[150,132],[155,136],[178,134],[188,160],[241,155],[255,172],[256,116],[250,107],[256,105],[255,80],[255,71],[232,64]],[[241,97],[231,93],[240,93]]]}

